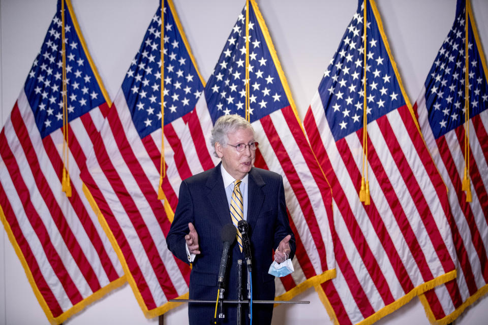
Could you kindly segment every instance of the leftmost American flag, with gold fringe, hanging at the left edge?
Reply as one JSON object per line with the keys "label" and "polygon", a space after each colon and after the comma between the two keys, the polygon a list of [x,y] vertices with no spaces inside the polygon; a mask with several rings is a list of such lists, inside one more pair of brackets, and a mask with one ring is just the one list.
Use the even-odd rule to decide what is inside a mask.
{"label": "leftmost American flag, with gold fringe, hanging at the left edge", "polygon": [[[124,283],[78,175],[108,108],[69,1],[58,1],[41,50],[0,133],[2,221],[51,323]],[[63,25],[64,22],[64,25]],[[63,160],[63,28],[69,160]],[[62,191],[64,164],[72,195]]]}

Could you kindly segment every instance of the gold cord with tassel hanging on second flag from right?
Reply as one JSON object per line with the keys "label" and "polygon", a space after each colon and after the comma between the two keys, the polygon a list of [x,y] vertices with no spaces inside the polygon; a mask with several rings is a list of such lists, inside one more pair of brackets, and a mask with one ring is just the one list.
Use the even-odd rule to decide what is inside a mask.
{"label": "gold cord with tassel hanging on second flag from right", "polygon": [[[366,29],[368,24],[366,23],[366,1],[363,3],[363,28],[364,28],[364,52],[363,52],[363,70],[364,70],[364,94],[363,94],[363,111],[362,111],[362,177],[361,188],[359,190],[359,201],[364,202],[364,205],[370,205],[370,181],[368,178],[368,120],[367,120],[367,103],[366,103]],[[366,181],[364,181],[364,173],[366,173]]]}

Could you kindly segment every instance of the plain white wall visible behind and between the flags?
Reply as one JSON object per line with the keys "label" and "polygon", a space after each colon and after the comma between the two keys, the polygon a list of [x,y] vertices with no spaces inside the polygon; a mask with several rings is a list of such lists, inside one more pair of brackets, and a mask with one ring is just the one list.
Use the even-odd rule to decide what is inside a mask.
{"label": "plain white wall visible behind and between the flags", "polygon": [[[173,0],[205,80],[217,62],[243,0]],[[471,0],[481,42],[488,53],[488,1]],[[111,99],[139,49],[158,0],[72,0],[78,22]],[[377,0],[383,25],[412,104],[447,36],[455,0]],[[258,0],[288,79],[300,118],[339,45],[357,0]],[[56,0],[0,0],[0,125],[3,126],[54,15]],[[275,308],[273,324],[331,324],[313,289],[296,300],[310,305]],[[488,299],[455,321],[485,324]],[[187,309],[165,315],[166,324],[187,323]],[[66,323],[157,324],[147,320],[128,285],[115,290]],[[428,324],[418,299],[377,324]],[[0,231],[0,324],[48,324],[4,231]]]}

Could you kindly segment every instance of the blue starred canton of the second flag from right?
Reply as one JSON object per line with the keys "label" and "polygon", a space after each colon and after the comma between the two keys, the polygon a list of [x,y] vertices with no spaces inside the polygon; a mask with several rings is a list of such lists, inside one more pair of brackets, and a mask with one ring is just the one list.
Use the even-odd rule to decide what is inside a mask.
{"label": "blue starred canton of the second flag from right", "polygon": [[[406,105],[386,51],[378,23],[367,2],[366,100],[368,123]],[[349,23],[339,49],[319,85],[325,117],[335,141],[363,126],[363,4]]]}

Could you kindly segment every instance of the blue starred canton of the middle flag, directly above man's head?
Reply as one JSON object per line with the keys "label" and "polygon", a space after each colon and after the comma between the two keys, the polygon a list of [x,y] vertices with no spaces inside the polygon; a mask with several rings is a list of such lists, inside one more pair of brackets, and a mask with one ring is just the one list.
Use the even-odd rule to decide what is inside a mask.
{"label": "blue starred canton of the middle flag, directly above man's head", "polygon": [[[249,113],[252,123],[290,104],[251,4],[249,9]],[[245,116],[248,82],[245,69],[246,7],[205,86],[205,99],[214,123],[222,115]]]}

